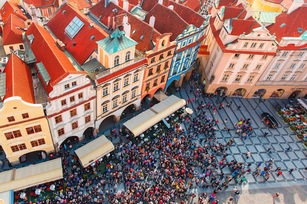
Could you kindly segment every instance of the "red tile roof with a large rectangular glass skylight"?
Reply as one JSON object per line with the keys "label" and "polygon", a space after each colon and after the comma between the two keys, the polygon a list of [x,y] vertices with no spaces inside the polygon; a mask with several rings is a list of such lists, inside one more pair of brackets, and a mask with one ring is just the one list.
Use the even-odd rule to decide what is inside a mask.
{"label": "red tile roof with a large rectangular glass skylight", "polygon": [[[66,12],[63,13],[64,10]],[[84,25],[72,40],[65,33],[65,28],[75,17],[80,19]],[[94,50],[97,49],[98,45],[96,41],[109,36],[109,34],[96,23],[94,23],[93,27],[90,27],[90,21],[91,19],[89,17],[65,3],[47,23],[52,33],[66,45],[65,48],[73,55],[80,65],[82,65]],[[92,36],[95,36],[93,40],[91,40]],[[77,43],[75,46],[73,46],[74,42]]]}

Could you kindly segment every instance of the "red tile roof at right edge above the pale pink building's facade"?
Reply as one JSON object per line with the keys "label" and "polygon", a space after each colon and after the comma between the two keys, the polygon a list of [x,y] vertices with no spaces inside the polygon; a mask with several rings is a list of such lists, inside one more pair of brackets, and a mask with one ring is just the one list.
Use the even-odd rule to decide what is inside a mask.
{"label": "red tile roof at right edge above the pale pink building's facade", "polygon": [[[276,17],[276,22],[266,28],[271,34],[275,33],[276,40],[281,41],[282,37],[300,37],[307,30],[307,6],[303,5],[291,13],[282,12]],[[281,24],[285,23],[283,27]],[[298,28],[302,28],[303,32],[299,32]]]}

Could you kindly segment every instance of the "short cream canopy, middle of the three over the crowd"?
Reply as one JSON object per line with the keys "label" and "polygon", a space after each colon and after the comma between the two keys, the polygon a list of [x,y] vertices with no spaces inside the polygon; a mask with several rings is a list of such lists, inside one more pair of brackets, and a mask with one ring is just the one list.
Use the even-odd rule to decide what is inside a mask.
{"label": "short cream canopy, middle of the three over the crowd", "polygon": [[75,150],[79,161],[83,167],[87,167],[97,159],[100,159],[104,155],[112,152],[114,145],[104,135],[94,139],[86,145]]}

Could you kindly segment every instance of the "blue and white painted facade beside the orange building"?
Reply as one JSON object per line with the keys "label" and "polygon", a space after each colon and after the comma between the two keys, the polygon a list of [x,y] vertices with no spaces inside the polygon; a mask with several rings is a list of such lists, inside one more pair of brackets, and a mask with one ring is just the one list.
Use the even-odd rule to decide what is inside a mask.
{"label": "blue and white painted facade beside the orange building", "polygon": [[174,80],[179,81],[180,78],[184,77],[193,67],[201,43],[206,37],[209,18],[210,17],[205,20],[200,28],[197,28],[192,24],[188,25],[188,27],[183,30],[182,34],[176,38],[177,47],[175,49],[164,91],[167,90],[168,86],[174,82]]}

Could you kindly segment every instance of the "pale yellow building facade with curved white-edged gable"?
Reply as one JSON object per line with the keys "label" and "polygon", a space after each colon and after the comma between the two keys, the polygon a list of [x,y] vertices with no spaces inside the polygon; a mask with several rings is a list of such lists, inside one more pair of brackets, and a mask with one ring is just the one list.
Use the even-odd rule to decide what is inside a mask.
{"label": "pale yellow building facade with curved white-edged gable", "polygon": [[[19,96],[4,100],[0,109],[0,145],[12,165],[28,159],[28,153],[47,156],[54,152],[48,120],[41,104]],[[44,159],[44,156],[43,156]]]}

